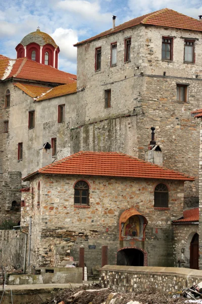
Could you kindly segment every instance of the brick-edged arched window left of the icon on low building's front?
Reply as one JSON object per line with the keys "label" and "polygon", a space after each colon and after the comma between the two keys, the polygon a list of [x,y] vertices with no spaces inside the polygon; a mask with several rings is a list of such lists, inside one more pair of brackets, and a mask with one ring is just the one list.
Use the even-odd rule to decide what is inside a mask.
{"label": "brick-edged arched window left of the icon on low building's front", "polygon": [[74,205],[88,205],[89,202],[89,187],[88,184],[80,180],[74,187]]}

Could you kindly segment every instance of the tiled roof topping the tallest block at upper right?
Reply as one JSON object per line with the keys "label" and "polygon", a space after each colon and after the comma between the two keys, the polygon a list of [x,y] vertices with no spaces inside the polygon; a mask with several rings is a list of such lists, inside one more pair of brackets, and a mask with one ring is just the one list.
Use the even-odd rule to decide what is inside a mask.
{"label": "tiled roof topping the tallest block at upper right", "polygon": [[188,29],[188,30],[193,30],[193,31],[202,31],[202,22],[201,21],[166,8],[166,9],[156,11],[153,13],[149,13],[147,15],[143,15],[141,17],[137,17],[135,19],[127,21],[123,24],[116,26],[115,29],[111,28],[111,29],[106,30],[89,39],[78,42],[77,44],[75,44],[75,46],[96,40],[100,37],[114,34],[116,32],[128,29],[128,28],[136,26],[136,25],[140,25],[140,24]]}

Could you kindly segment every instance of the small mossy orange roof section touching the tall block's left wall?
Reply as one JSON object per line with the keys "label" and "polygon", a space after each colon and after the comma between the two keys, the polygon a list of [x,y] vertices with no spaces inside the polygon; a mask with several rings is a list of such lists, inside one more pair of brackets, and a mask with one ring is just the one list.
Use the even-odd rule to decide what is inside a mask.
{"label": "small mossy orange roof section touching the tall block's left wall", "polygon": [[76,86],[76,82],[74,82],[73,84],[68,84],[68,85],[63,85],[63,86],[58,86],[58,87],[52,88],[46,94],[44,94],[42,97],[38,98],[37,101],[51,99],[51,98],[55,98],[58,96],[64,96],[64,95],[68,95],[68,94],[72,94],[72,93],[76,93],[76,92],[77,92],[77,86]]}

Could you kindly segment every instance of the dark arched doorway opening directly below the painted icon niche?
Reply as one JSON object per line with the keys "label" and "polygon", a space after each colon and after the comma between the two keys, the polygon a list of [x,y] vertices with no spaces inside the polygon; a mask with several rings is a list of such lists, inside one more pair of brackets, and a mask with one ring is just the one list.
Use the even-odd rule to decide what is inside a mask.
{"label": "dark arched doorway opening directly below the painted icon niche", "polygon": [[117,265],[143,266],[144,254],[142,251],[134,248],[122,249],[117,253]]}

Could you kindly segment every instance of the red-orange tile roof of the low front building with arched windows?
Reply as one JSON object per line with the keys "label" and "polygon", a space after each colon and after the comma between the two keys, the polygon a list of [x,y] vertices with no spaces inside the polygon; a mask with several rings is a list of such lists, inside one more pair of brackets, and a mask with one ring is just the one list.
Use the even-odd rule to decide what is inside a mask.
{"label": "red-orange tile roof of the low front building with arched windows", "polygon": [[[39,169],[37,173],[194,180],[183,173],[117,152],[80,151]],[[23,180],[29,180],[37,173],[26,176]]]}

